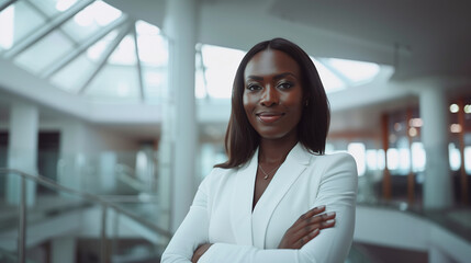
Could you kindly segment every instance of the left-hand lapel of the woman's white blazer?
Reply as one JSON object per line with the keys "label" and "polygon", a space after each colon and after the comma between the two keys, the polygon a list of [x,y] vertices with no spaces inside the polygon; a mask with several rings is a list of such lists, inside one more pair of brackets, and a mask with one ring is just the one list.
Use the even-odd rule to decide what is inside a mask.
{"label": "left-hand lapel of the woman's white blazer", "polygon": [[254,201],[255,175],[257,172],[258,149],[251,160],[239,168],[235,175],[232,197],[232,231],[237,244],[253,245],[251,205]]}

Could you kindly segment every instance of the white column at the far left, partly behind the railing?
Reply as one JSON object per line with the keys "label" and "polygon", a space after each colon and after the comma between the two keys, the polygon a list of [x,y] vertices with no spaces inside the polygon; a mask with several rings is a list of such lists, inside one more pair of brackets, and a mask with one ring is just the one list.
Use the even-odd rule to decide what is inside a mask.
{"label": "white column at the far left, partly behind the railing", "polygon": [[[37,174],[37,107],[15,102],[10,108],[8,168]],[[34,182],[26,181],[26,204],[33,205],[36,195]],[[20,203],[21,179],[10,174],[7,182],[7,201]]]}

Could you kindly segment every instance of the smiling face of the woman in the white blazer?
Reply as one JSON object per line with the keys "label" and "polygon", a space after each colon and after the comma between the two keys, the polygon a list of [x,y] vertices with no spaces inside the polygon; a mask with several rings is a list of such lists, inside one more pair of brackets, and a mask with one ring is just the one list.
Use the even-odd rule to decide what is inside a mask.
{"label": "smiling face of the woman in the white blazer", "polygon": [[265,139],[298,139],[303,107],[298,62],[280,50],[256,54],[244,71],[244,110]]}

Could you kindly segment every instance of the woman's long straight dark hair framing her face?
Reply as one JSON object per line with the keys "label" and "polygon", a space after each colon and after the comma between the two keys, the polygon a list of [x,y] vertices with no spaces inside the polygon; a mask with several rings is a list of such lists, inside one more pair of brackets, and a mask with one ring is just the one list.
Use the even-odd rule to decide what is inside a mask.
{"label": "woman's long straight dark hair framing her face", "polygon": [[269,48],[285,53],[300,66],[305,105],[303,105],[303,114],[298,124],[298,138],[312,153],[324,155],[330,111],[317,69],[309,55],[296,44],[283,38],[273,38],[258,43],[250,48],[237,68],[233,84],[231,118],[225,137],[228,160],[216,164],[217,168],[235,168],[246,163],[259,145],[260,136],[251,127],[244,111],[244,71],[248,61],[257,53]]}

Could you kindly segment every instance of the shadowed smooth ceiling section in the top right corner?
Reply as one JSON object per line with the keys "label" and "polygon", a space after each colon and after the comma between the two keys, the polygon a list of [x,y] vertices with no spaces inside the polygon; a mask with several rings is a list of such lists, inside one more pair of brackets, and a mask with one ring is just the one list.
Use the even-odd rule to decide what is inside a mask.
{"label": "shadowed smooth ceiling section in the top right corner", "polygon": [[[401,50],[396,78],[470,75],[470,1],[277,0],[270,8],[312,27]],[[351,54],[355,56],[355,54]],[[361,59],[361,58],[360,58]],[[363,57],[388,64],[391,59]]]}

